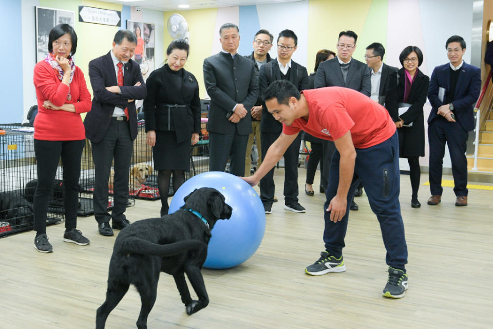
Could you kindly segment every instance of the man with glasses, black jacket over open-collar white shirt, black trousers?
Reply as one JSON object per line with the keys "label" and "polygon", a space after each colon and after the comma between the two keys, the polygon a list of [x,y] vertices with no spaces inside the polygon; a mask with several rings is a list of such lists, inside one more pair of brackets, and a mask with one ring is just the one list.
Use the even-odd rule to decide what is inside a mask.
{"label": "man with glasses, black jacket over open-collar white shirt, black trousers", "polygon": [[[304,66],[291,60],[291,56],[297,48],[298,38],[291,30],[283,30],[277,38],[277,59],[262,65],[259,72],[260,93],[264,92],[269,85],[276,80],[289,80],[298,90],[308,88],[308,73]],[[282,132],[282,123],[278,122],[263,105],[262,121],[260,122],[260,140],[262,158],[272,143]],[[298,136],[284,154],[285,180],[284,197],[285,209],[294,212],[305,212],[305,208],[298,203],[298,156],[301,144],[301,135]],[[274,168],[272,168],[260,180],[260,199],[266,214],[272,213],[274,202]]]}

